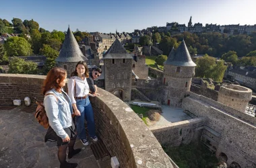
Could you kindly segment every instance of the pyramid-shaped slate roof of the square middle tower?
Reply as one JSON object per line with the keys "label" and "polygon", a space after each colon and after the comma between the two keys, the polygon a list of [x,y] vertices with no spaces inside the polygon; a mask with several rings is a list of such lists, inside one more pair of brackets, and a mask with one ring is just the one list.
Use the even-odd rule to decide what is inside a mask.
{"label": "pyramid-shaped slate roof of the square middle tower", "polygon": [[103,55],[104,59],[113,59],[113,58],[126,58],[133,59],[133,56],[129,54],[121,42],[118,39],[113,42],[112,46],[108,49],[108,51]]}

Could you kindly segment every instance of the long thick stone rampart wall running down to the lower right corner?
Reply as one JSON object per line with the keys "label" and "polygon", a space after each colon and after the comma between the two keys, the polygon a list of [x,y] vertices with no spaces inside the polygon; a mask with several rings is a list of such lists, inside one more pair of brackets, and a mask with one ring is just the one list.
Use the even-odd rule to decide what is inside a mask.
{"label": "long thick stone rampart wall running down to the lower right corner", "polygon": [[202,95],[189,95],[183,99],[183,109],[207,118],[206,126],[220,134],[216,157],[224,153],[228,165],[234,161],[241,167],[256,167],[256,118]]}

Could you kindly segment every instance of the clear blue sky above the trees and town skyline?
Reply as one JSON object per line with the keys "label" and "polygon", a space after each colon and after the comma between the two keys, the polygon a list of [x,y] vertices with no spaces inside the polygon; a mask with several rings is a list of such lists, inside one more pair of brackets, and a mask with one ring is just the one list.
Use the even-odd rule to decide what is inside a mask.
{"label": "clear blue sky above the trees and town skyline", "polygon": [[1,0],[0,18],[34,19],[52,30],[133,32],[166,22],[256,24],[256,0]]}

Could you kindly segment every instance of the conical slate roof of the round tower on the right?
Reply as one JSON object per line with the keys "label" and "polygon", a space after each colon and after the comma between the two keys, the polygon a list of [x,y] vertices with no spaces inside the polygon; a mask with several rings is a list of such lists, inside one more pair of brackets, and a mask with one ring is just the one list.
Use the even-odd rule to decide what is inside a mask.
{"label": "conical slate roof of the round tower on the right", "polygon": [[187,46],[184,40],[181,42],[177,50],[170,51],[170,54],[167,60],[164,62],[166,65],[174,65],[174,66],[182,66],[182,67],[195,67],[197,66],[195,62],[191,59],[189,54],[189,50],[187,50]]}

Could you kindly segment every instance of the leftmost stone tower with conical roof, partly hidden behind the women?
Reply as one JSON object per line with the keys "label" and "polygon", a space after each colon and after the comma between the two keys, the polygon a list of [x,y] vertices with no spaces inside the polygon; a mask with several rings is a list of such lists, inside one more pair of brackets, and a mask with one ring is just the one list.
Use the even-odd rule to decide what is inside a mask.
{"label": "leftmost stone tower with conical roof, partly hidden behind the women", "polygon": [[56,66],[62,67],[67,70],[67,77],[70,77],[71,72],[75,71],[75,65],[78,61],[84,60],[88,62],[88,58],[84,56],[82,51],[73,36],[70,28],[67,29],[67,34],[59,52],[59,56],[56,58]]}

